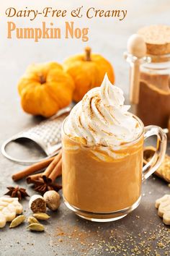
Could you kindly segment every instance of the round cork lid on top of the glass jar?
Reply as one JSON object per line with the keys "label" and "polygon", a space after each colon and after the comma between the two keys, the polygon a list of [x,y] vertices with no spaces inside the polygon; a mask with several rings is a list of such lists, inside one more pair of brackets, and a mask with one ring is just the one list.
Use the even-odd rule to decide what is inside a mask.
{"label": "round cork lid on top of the glass jar", "polygon": [[170,54],[170,26],[151,25],[138,30],[142,35],[147,47],[147,54],[164,55]]}

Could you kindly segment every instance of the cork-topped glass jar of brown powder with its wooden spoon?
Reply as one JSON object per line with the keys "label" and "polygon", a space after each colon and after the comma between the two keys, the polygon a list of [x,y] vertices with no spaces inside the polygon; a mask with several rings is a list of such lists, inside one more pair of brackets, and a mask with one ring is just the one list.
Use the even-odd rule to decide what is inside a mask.
{"label": "cork-topped glass jar of brown powder with its wooden spoon", "polygon": [[125,53],[130,63],[130,102],[134,104],[134,113],[145,125],[162,128],[169,127],[170,121],[169,35],[167,25],[141,27],[136,35],[138,40],[132,35]]}

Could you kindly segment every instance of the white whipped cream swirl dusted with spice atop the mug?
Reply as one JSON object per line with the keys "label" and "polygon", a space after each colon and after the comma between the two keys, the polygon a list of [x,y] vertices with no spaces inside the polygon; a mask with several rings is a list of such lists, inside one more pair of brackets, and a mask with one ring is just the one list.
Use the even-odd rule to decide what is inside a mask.
{"label": "white whipped cream swirl dusted with spice atop the mug", "polygon": [[124,101],[122,90],[112,85],[105,74],[102,85],[89,90],[71,110],[66,134],[84,138],[86,145],[117,146],[135,140],[142,127]]}

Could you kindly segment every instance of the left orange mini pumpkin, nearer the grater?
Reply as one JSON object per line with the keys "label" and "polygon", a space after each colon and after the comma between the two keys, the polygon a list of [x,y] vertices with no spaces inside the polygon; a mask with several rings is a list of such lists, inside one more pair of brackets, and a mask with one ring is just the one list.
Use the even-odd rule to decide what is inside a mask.
{"label": "left orange mini pumpkin, nearer the grater", "polygon": [[25,112],[49,117],[71,103],[74,82],[56,62],[32,64],[19,80],[18,90]]}

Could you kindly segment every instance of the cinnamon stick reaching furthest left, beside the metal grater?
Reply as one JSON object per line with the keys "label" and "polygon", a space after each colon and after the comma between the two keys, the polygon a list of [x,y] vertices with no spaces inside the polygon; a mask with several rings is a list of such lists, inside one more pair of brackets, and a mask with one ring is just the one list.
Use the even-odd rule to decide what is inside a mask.
{"label": "cinnamon stick reaching furthest left, beside the metal grater", "polygon": [[17,182],[19,179],[23,179],[29,176],[30,174],[34,174],[36,171],[40,171],[42,168],[47,167],[54,160],[54,158],[55,156],[53,156],[52,158],[43,160],[39,163],[35,163],[32,166],[27,167],[22,171],[19,171],[16,174],[12,175],[12,179],[14,180],[14,182]]}

